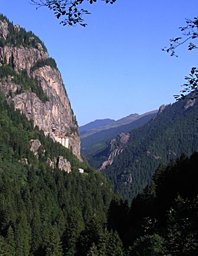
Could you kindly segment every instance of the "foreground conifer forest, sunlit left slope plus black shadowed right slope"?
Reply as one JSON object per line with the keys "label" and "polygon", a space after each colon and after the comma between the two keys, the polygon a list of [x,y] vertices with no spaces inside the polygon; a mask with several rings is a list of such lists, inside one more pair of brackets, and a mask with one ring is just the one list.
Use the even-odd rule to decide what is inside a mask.
{"label": "foreground conifer forest, sunlit left slope plus black shadowed right slope", "polygon": [[[3,96],[0,117],[1,255],[197,255],[197,153],[161,163],[129,206],[100,172],[75,171],[72,153]],[[33,137],[42,142],[38,159]],[[73,162],[70,174],[46,164],[60,153]]]}

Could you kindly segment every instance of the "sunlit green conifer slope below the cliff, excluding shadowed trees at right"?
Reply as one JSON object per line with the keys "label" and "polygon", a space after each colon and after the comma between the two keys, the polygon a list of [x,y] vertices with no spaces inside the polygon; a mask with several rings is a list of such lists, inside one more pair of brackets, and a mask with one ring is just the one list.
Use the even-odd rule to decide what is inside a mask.
{"label": "sunlit green conifer slope below the cliff, excluding shadowed trees at right", "polygon": [[[33,141],[40,142],[36,150]],[[59,168],[60,156],[71,163],[70,173]],[[56,165],[51,165],[54,159]],[[79,168],[85,172],[79,173]],[[121,242],[104,228],[112,197],[111,185],[101,173],[34,128],[1,95],[1,255],[86,255],[93,232],[98,238],[106,232],[106,246],[112,239]]]}

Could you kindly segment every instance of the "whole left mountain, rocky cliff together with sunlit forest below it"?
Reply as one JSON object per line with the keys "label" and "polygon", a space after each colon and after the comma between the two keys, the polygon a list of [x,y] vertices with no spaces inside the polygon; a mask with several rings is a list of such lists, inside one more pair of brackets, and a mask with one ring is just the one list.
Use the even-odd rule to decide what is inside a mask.
{"label": "whole left mountain, rocky cliff together with sunlit forest below it", "polygon": [[[118,233],[106,228],[111,184],[80,156],[56,62],[4,15],[0,89],[0,255],[86,256],[95,246],[122,255]],[[69,147],[54,133],[67,136]]]}

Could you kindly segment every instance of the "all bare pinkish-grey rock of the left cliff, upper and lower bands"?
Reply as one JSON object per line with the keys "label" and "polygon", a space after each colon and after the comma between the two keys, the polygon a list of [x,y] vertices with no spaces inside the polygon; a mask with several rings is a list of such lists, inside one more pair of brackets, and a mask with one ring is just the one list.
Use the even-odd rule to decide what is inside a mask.
{"label": "all bare pinkish-grey rock of the left cliff, upper and lower bands", "polygon": [[[20,27],[14,26],[14,29],[15,33],[20,32]],[[1,91],[7,95],[9,103],[14,103],[15,108],[24,113],[29,120],[33,120],[34,125],[42,129],[46,135],[53,139],[55,134],[68,136],[69,148],[81,160],[77,122],[60,72],[49,65],[32,69],[39,61],[48,59],[48,53],[43,50],[40,43],[36,43],[35,47],[7,45],[9,33],[7,21],[1,21],[0,40],[5,40],[5,45],[0,47],[0,65],[11,63],[12,69],[18,73],[25,69],[29,78],[37,79],[38,86],[47,94],[48,100],[41,101],[31,89],[18,93],[21,84],[14,82],[11,75],[0,80]],[[34,40],[34,37],[29,40]]]}

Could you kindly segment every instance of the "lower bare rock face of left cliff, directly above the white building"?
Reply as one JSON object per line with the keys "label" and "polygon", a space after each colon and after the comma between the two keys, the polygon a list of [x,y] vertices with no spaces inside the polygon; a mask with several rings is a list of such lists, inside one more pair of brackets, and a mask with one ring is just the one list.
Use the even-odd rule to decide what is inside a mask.
{"label": "lower bare rock face of left cliff, directly above the white building", "polygon": [[[9,98],[8,102],[14,102],[15,108],[21,110],[27,116],[28,120],[33,120],[34,125],[50,135],[54,139],[54,134],[69,135],[69,148],[72,148],[74,155],[80,160],[80,137],[77,131],[78,127],[74,123],[74,116],[70,108],[70,102],[67,98],[66,91],[59,71],[52,69],[50,66],[44,66],[33,72],[37,76],[38,83],[46,92],[49,101],[43,103],[37,95],[31,91],[25,91],[22,94]],[[4,92],[15,92],[17,85],[11,81],[0,82]],[[72,131],[71,131],[72,130]]]}

